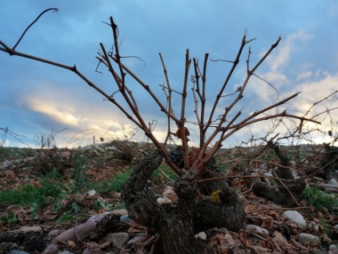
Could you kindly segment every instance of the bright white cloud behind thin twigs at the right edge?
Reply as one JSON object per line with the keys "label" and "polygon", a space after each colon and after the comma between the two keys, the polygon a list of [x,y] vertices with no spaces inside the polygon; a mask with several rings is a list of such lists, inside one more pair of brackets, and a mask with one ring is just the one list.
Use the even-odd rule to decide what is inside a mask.
{"label": "bright white cloud behind thin twigs at the right edge", "polygon": [[[327,135],[327,131],[333,131],[334,134],[336,134],[338,129],[338,109],[335,109],[335,107],[338,107],[338,93],[335,92],[338,90],[338,73],[328,74],[327,72],[320,71],[318,74],[320,74],[318,75],[318,80],[297,84],[293,91],[288,91],[288,94],[294,94],[298,91],[302,92],[290,101],[293,107],[288,107],[288,105],[283,106],[288,107],[287,113],[289,114],[304,116],[310,109],[309,114],[306,115],[307,118],[312,118],[317,115],[314,120],[321,124],[311,122],[304,123],[302,131],[312,132],[304,137],[302,142],[307,142],[307,139],[310,139],[315,143],[329,142],[332,138]],[[281,111],[281,108],[279,109]],[[271,112],[271,114],[273,113],[274,112]],[[274,133],[280,133],[279,137],[282,137],[283,133],[294,130],[300,121],[284,118],[283,123],[284,124],[278,126],[270,137],[274,136]],[[270,131],[273,126],[274,124],[272,121],[255,123],[250,126],[250,130],[254,135],[262,137],[267,131]],[[322,132],[316,131],[317,129]],[[240,136],[241,134],[239,133],[243,132],[238,132],[235,136]],[[248,131],[246,131],[246,136],[249,137]]]}

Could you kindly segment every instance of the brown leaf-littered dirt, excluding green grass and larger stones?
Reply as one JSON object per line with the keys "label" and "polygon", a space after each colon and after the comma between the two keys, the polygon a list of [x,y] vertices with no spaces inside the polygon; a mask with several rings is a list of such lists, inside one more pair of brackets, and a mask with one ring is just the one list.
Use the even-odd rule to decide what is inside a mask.
{"label": "brown leaf-littered dirt, excluding green grass and larger stones", "polygon": [[[109,143],[103,146],[76,149],[50,148],[20,150],[12,148],[12,151],[8,150],[10,148],[6,148],[5,150],[0,149],[0,191],[20,189],[24,186],[41,187],[41,179],[51,174],[52,171],[58,172],[62,177],[60,184],[64,184],[62,187],[65,191],[68,190],[68,194],[65,194],[64,198],[58,201],[59,203],[55,204],[52,201],[47,201],[42,207],[35,207],[33,204],[12,205],[0,202],[0,218],[3,218],[0,220],[0,233],[11,232],[22,226],[40,226],[44,232],[44,242],[48,243],[52,241],[52,236],[50,236],[49,233],[53,230],[65,230],[84,223],[90,216],[123,208],[120,193],[117,191],[109,190],[92,195],[88,193],[90,189],[83,190],[82,193],[71,193],[71,188],[72,184],[74,184],[74,173],[77,171],[79,174],[84,172],[84,179],[88,182],[100,184],[125,171],[130,171],[133,165],[137,163],[143,155],[146,155],[151,148],[148,144],[132,144],[131,146],[132,147],[129,148],[122,147],[121,149],[121,147],[118,147],[118,144]],[[320,151],[319,147],[302,149],[302,154],[304,154],[306,150],[309,155],[310,153],[317,153],[315,155],[318,155]],[[230,164],[230,166],[227,166],[227,175],[239,175],[243,167],[245,167],[244,162],[247,162],[248,158],[252,157],[253,153],[257,151],[260,151],[260,147],[255,147],[254,149],[222,149],[217,155],[217,161],[221,168],[224,165]],[[130,155],[127,155],[126,152],[129,152]],[[318,159],[311,160],[313,161],[309,160],[308,163],[302,163],[302,165],[300,165],[302,171],[314,167],[314,163],[318,163]],[[278,159],[271,153],[264,153],[250,164],[250,170],[262,170],[262,163],[278,163]],[[83,171],[79,171],[78,169],[83,169]],[[59,181],[58,179],[54,180],[56,182]],[[317,183],[317,180],[307,179],[307,182],[313,186]],[[172,182],[170,179],[167,179],[165,175],[162,175],[160,177],[154,177],[154,179],[150,181],[150,184],[157,195],[160,196],[165,187],[172,185]],[[275,251],[275,253],[310,253],[313,248],[321,248],[321,250],[323,250],[322,253],[327,253],[326,246],[338,242],[336,234],[331,235],[334,237],[333,239],[330,239],[327,235],[327,232],[333,232],[333,226],[338,224],[338,218],[333,213],[327,210],[318,211],[310,208],[308,204],[302,203],[304,207],[309,208],[303,210],[301,208],[294,208],[294,210],[301,211],[304,218],[313,223],[312,228],[308,228],[304,231],[299,228],[299,226],[284,221],[281,214],[287,209],[271,203],[266,199],[257,197],[250,192],[250,186],[247,186],[245,179],[231,179],[231,185],[237,189],[239,195],[243,196],[247,216],[246,224],[254,224],[268,228],[271,234],[270,236],[258,237],[254,236],[254,234],[245,234],[245,230],[241,230],[235,234],[230,232],[224,233],[225,229],[221,228],[217,229],[219,231],[214,229],[207,233],[207,244],[215,251],[210,253],[226,253],[222,251],[234,250],[235,247],[229,249],[231,244],[229,243],[231,241],[227,238],[229,235],[231,236],[230,238],[236,242],[233,246],[237,246],[238,251],[242,251],[238,253],[244,253],[244,246],[246,246],[247,253],[266,253],[264,251],[271,251],[274,250],[274,248],[277,251]],[[57,206],[59,206],[59,209],[56,208]],[[12,214],[11,219],[9,218],[9,214]],[[8,219],[6,220],[4,218]],[[325,226],[323,226],[323,221],[326,222]],[[314,229],[315,227],[316,229]],[[146,233],[147,229],[139,225],[130,224],[128,232]],[[301,232],[318,235],[322,242],[325,242],[326,246],[302,246],[302,244],[297,242],[298,234]],[[149,235],[149,237],[150,236],[151,235]],[[285,238],[287,238],[287,244]],[[77,245],[73,246],[73,248],[70,246],[66,249],[73,250],[75,253],[81,253],[82,250],[84,250],[85,244],[74,244]],[[228,247],[226,248],[226,246]],[[0,253],[5,252],[0,251]]]}

